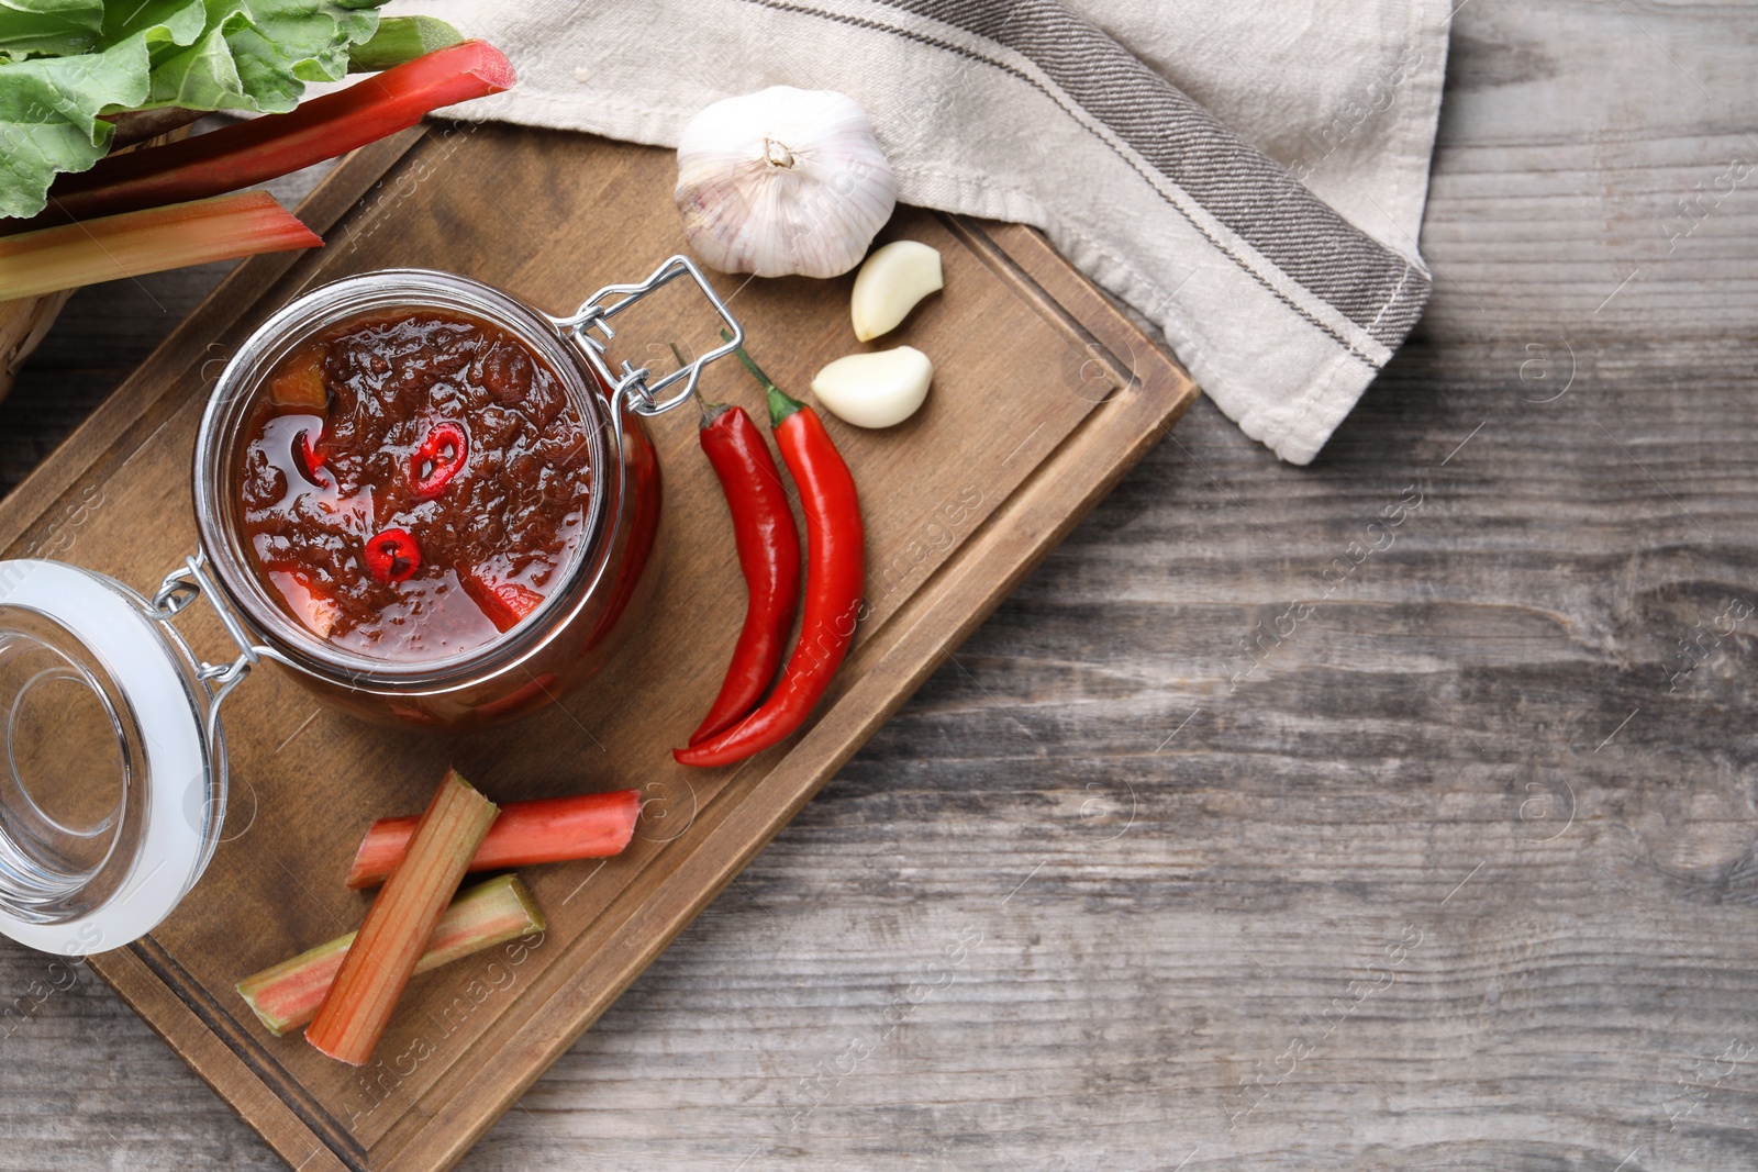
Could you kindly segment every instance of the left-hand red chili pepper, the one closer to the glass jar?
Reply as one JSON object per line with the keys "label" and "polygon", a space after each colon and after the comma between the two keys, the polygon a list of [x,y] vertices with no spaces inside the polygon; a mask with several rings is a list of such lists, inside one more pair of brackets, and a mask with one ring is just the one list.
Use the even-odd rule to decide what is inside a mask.
{"label": "left-hand red chili pepper, the one closer to the glass jar", "polygon": [[696,745],[742,720],[775,680],[782,643],[800,603],[800,531],[768,453],[763,432],[744,408],[705,406],[701,450],[708,453],[726,506],[733,511],[733,541],[745,571],[745,626],[738,633],[726,682],[708,715],[691,733]]}

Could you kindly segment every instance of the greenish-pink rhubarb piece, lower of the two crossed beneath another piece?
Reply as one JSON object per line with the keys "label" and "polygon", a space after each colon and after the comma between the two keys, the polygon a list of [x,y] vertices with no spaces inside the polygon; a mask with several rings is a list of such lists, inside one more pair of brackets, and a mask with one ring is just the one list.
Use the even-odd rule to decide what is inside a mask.
{"label": "greenish-pink rhubarb piece, lower of the two crossed beneath another piece", "polygon": [[[415,975],[536,931],[543,931],[543,912],[531,891],[519,875],[498,875],[466,887],[452,900],[452,907],[434,926],[427,951],[415,961]],[[255,977],[244,977],[237,982],[239,996],[274,1037],[308,1024],[336,980],[355,935],[350,931],[274,968],[264,968]]]}

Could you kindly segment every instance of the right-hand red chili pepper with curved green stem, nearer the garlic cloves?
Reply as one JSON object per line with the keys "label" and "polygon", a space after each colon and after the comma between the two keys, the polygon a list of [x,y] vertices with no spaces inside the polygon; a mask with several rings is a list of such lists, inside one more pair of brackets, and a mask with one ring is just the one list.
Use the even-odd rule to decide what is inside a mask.
{"label": "right-hand red chili pepper with curved green stem, nearer the garlic cloves", "polygon": [[805,619],[775,692],[749,717],[689,749],[680,764],[731,764],[768,749],[800,727],[817,706],[854,638],[867,580],[865,529],[854,476],[812,408],[775,388],[751,358],[744,364],[768,388],[770,427],[805,511]]}

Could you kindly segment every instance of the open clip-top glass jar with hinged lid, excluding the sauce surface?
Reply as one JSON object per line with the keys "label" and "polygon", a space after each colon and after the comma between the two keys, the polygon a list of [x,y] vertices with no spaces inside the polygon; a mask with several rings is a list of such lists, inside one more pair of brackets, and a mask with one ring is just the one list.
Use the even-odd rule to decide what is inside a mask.
{"label": "open clip-top glass jar with hinged lid, excluding the sauce surface", "polygon": [[[610,320],[689,276],[728,339],[654,378],[612,369]],[[543,358],[585,422],[591,501],[557,583],[517,626],[450,659],[394,662],[329,643],[269,596],[246,561],[237,467],[260,385],[311,334],[390,307],[445,309],[496,325]],[[543,706],[589,678],[631,626],[654,576],[659,464],[642,418],[686,402],[701,369],[744,341],[708,281],[672,257],[550,318],[492,286],[385,269],[280,309],[222,373],[195,443],[200,550],[153,597],[65,562],[0,562],[0,933],[83,956],[156,926],[200,879],[225,819],[220,705],[262,659],[359,715],[475,727]],[[176,631],[206,597],[236,643],[207,662]]]}

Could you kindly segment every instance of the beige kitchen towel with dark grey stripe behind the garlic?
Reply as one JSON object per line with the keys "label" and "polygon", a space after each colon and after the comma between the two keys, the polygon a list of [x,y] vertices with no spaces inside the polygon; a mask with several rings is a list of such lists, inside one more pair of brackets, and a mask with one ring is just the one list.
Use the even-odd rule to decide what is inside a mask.
{"label": "beige kitchen towel with dark grey stripe behind the garlic", "polygon": [[1311,460],[1429,293],[1447,0],[411,0],[519,69],[452,111],[675,146],[772,84],[872,116],[898,199],[1042,228],[1248,436]]}

